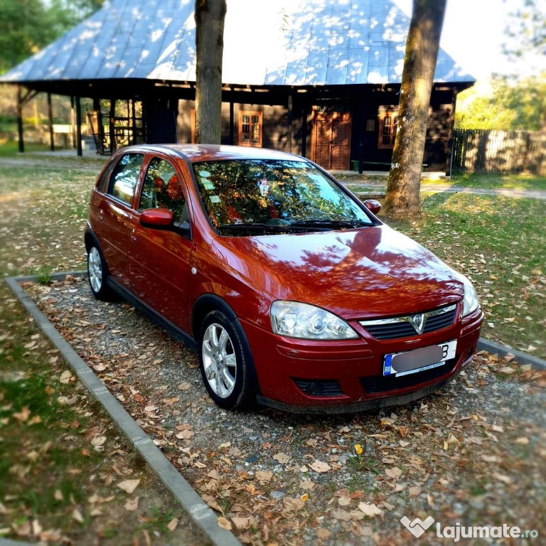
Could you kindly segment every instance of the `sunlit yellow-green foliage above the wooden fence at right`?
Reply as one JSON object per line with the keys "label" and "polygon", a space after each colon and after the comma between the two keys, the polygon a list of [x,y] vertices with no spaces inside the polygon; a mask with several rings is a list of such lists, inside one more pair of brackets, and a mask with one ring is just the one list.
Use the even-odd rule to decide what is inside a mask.
{"label": "sunlit yellow-green foliage above the wooden fence at right", "polygon": [[537,131],[546,127],[546,73],[510,82],[491,80],[492,93],[480,87],[461,92],[457,99],[457,129]]}

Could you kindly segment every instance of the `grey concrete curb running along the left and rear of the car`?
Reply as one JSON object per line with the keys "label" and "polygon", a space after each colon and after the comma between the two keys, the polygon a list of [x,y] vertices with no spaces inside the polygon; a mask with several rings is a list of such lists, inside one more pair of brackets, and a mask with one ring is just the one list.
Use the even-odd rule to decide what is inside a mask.
{"label": "grey concrete curb running along the left and rear of the car", "polygon": [[[87,277],[87,272],[54,273],[50,275],[52,280],[63,280],[70,274],[73,277]],[[218,525],[218,516],[215,515],[207,504],[200,498],[198,493],[184,479],[176,468],[168,461],[166,456],[154,444],[151,438],[134,422],[134,419],[124,410],[121,404],[110,394],[105,384],[97,378],[95,372],[85,364],[77,355],[65,338],[55,329],[47,317],[38,309],[36,304],[27,296],[26,292],[18,284],[19,282],[36,282],[36,277],[8,277],[6,283],[14,291],[14,294],[21,301],[29,314],[33,317],[36,325],[50,339],[53,345],[60,350],[65,360],[75,371],[80,381],[87,387],[87,390],[105,408],[110,417],[114,419],[120,429],[129,438],[129,441],[146,459],[151,469],[161,479],[165,486],[173,493],[188,516],[203,533],[213,542],[215,546],[242,546],[232,532],[221,528]],[[4,539],[1,539],[4,540]],[[6,546],[11,543],[7,542]],[[16,544],[15,542],[13,544]],[[0,542],[0,546],[4,546]]]}

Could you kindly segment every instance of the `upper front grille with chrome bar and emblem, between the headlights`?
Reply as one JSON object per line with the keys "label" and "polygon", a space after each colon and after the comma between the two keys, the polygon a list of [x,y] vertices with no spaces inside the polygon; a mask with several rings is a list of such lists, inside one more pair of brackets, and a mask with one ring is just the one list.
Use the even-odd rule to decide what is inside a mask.
{"label": "upper front grille with chrome bar and emblem, between the headlights", "polygon": [[[457,306],[450,305],[410,316],[397,316],[393,319],[378,319],[375,321],[360,321],[360,324],[375,339],[410,338],[450,326],[454,323],[456,311]],[[418,322],[419,319],[420,323]]]}

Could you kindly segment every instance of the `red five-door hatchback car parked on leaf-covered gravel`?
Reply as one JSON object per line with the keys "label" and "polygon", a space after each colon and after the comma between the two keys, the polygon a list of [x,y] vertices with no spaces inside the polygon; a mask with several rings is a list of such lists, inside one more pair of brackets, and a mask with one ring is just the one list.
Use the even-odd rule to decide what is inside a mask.
{"label": "red five-door hatchback car parked on leaf-covered gravel", "polygon": [[410,402],[470,362],[483,314],[469,280],[379,208],[293,154],[130,146],[92,192],[90,287],[196,350],[226,409]]}

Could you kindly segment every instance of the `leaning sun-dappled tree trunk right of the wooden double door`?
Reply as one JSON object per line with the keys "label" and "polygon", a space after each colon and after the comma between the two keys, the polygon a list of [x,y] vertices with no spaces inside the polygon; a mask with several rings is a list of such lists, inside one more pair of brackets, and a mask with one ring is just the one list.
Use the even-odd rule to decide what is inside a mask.
{"label": "leaning sun-dappled tree trunk right of the wooden double door", "polygon": [[421,211],[419,186],[424,141],[445,10],[446,0],[413,0],[400,87],[398,127],[385,198],[385,212],[391,216],[414,216]]}

